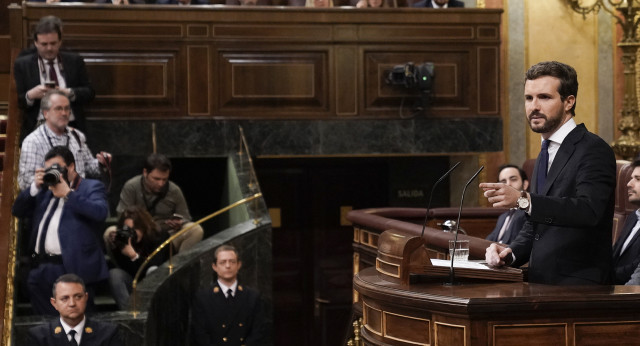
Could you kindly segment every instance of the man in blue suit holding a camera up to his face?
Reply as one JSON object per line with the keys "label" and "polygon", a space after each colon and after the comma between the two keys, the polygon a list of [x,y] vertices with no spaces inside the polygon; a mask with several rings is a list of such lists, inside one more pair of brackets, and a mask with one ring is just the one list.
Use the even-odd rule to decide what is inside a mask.
{"label": "man in blue suit holding a camera up to his face", "polygon": [[68,148],[49,150],[44,167],[36,169],[33,183],[18,195],[12,212],[32,220],[32,269],[27,277],[32,308],[38,314],[56,315],[46,297],[57,277],[80,276],[92,304],[91,285],[109,276],[97,237],[109,207],[104,185],[76,173]]}

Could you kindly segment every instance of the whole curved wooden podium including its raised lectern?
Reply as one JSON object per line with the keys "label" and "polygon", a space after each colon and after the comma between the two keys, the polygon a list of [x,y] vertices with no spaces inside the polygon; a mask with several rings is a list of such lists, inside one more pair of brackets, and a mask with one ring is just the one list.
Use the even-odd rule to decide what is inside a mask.
{"label": "whole curved wooden podium including its raised lectern", "polygon": [[[447,278],[425,261],[445,259],[452,235],[427,228],[422,237],[420,225],[394,214],[413,220],[418,211],[383,208],[348,215],[358,235],[356,250],[373,248],[377,240],[374,265],[354,266],[354,306],[363,317],[365,345],[639,343],[640,286],[551,286],[459,275],[459,285],[443,285]],[[470,240],[475,258],[489,243],[460,239]]]}

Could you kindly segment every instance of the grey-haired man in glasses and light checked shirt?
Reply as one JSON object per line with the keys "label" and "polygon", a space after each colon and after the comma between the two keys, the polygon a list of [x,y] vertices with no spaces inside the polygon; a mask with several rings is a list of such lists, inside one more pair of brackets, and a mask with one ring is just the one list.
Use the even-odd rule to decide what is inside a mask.
{"label": "grey-haired man in glasses and light checked shirt", "polygon": [[84,133],[68,126],[71,117],[70,103],[67,95],[60,90],[47,91],[42,97],[40,106],[45,122],[24,139],[20,150],[20,190],[31,186],[36,168],[44,163],[45,153],[57,145],[71,151],[75,160],[75,172],[81,177],[98,177],[102,167],[109,165],[109,153],[100,152],[94,158]]}

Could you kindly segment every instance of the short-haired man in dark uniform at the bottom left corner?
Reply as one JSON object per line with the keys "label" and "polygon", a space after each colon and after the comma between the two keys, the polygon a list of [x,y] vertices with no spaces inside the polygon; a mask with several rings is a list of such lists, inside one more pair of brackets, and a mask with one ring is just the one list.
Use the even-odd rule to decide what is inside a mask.
{"label": "short-haired man in dark uniform at the bottom left corner", "polygon": [[86,317],[88,293],[82,279],[64,274],[53,284],[51,305],[60,318],[29,329],[30,346],[121,346],[118,328]]}

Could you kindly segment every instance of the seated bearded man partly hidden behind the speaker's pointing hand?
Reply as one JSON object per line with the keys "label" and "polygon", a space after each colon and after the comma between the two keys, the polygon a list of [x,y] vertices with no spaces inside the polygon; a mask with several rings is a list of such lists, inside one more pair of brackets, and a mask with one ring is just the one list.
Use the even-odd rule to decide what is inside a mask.
{"label": "seated bearded man partly hidden behind the speaker's pointing hand", "polygon": [[[527,173],[516,165],[502,165],[498,170],[498,182],[509,185],[518,191],[529,188]],[[498,217],[496,228],[487,236],[487,240],[500,244],[510,244],[522,229],[526,221],[525,212],[518,208],[511,208]]]}

